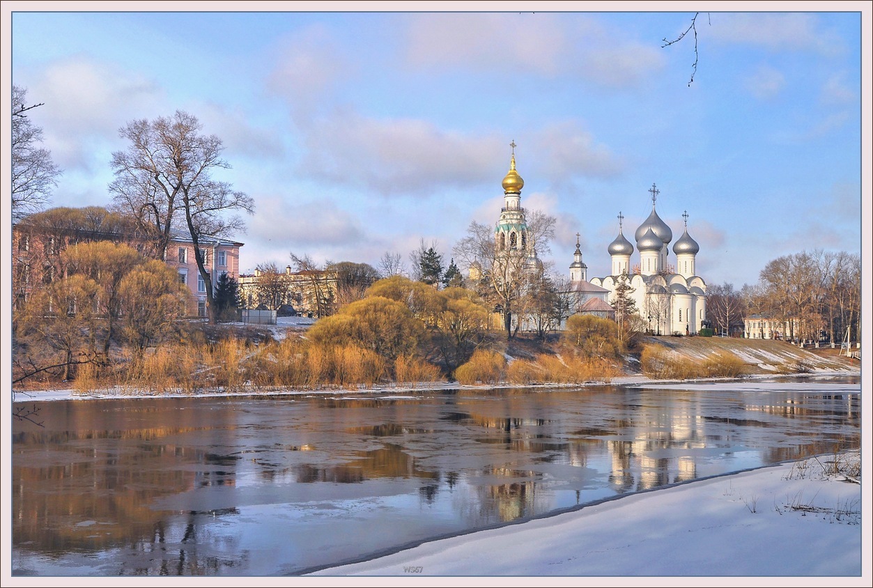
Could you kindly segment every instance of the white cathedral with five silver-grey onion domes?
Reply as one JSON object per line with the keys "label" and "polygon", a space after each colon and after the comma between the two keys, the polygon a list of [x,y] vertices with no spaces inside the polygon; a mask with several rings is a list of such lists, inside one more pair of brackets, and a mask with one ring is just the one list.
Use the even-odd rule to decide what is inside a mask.
{"label": "white cathedral with five silver-grey onion domes", "polygon": [[[673,245],[675,265],[670,263],[670,241],[673,232],[661,220],[655,209],[659,190],[650,188],[652,211],[634,234],[639,263],[631,267],[634,246],[622,233],[621,213],[618,215],[618,236],[607,248],[612,274],[593,277],[591,284],[608,291],[608,301],[615,297],[615,287],[622,274],[633,289],[630,296],[636,309],[649,325],[650,332],[662,335],[693,335],[700,331],[706,318],[706,284],[697,275],[697,255],[700,246],[688,234],[688,213],[683,214],[684,232]],[[571,266],[571,276],[573,268]]]}

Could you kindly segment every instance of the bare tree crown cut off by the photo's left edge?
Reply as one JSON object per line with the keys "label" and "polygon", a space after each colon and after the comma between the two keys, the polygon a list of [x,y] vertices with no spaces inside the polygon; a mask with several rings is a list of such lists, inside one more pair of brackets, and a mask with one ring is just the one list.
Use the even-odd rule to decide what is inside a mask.
{"label": "bare tree crown cut off by the photo's left edge", "polygon": [[42,104],[25,106],[27,90],[12,86],[12,209],[14,221],[43,209],[49,202],[52,188],[58,185],[60,169],[52,161],[48,149],[40,147],[43,129],[33,124],[25,114]]}

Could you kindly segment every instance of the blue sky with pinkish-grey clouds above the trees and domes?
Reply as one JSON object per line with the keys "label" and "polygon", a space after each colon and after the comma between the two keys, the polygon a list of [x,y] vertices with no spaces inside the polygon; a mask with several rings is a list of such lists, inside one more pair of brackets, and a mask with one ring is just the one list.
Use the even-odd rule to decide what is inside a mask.
{"label": "blue sky with pinkish-grey clouds above the trees and domes", "polygon": [[[753,284],[768,261],[801,250],[862,249],[870,3],[702,12],[696,73],[691,35],[662,46],[691,24],[684,5],[11,4],[21,11],[4,7],[4,85],[45,103],[31,116],[64,169],[52,204],[107,205],[109,161],[126,147],[118,129],[186,111],[223,140],[232,169],[221,179],[255,201],[236,236],[243,272],[291,263],[291,251],[374,266],[389,251],[409,263],[421,239],[448,263],[471,221],[497,221],[513,140],[522,205],[558,218],[545,257],[563,275],[577,232],[588,277],[608,274],[616,216],[632,240],[653,183],[674,242],[687,211],[708,284]],[[388,8],[404,6],[445,4]]]}

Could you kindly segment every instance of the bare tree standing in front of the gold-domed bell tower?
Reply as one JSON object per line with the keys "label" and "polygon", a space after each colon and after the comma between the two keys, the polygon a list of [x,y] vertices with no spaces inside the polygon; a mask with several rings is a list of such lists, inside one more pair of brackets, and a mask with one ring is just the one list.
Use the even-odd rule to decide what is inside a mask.
{"label": "bare tree standing in front of the gold-domed bell tower", "polygon": [[[534,211],[527,218],[526,247],[521,249],[499,248],[494,238],[494,229],[473,221],[467,229],[467,236],[457,243],[453,252],[467,264],[476,264],[481,270],[481,278],[486,284],[485,295],[493,304],[499,306],[504,319],[506,337],[514,335],[512,317],[516,315],[516,304],[525,292],[530,272],[530,252],[540,254],[549,252],[549,242],[554,236],[555,218],[540,211]],[[518,317],[516,317],[518,318]],[[516,323],[515,330],[518,330]]]}

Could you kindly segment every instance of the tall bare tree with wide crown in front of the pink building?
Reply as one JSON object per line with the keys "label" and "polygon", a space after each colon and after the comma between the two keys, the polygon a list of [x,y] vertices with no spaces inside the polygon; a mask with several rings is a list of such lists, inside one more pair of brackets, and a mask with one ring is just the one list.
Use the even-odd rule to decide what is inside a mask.
{"label": "tall bare tree with wide crown in front of the pink building", "polygon": [[215,322],[214,292],[202,248],[235,231],[244,230],[237,210],[251,214],[254,202],[229,183],[214,181],[216,169],[230,168],[222,159],[223,143],[200,133],[203,125],[189,113],[154,121],[134,120],[120,129],[130,141],[113,154],[115,179],[109,184],[116,205],[148,227],[166,259],[175,221],[194,242],[197,270],[206,284],[206,306]]}

